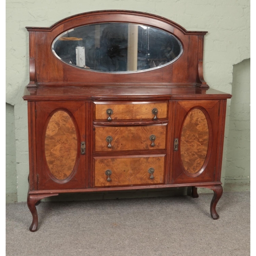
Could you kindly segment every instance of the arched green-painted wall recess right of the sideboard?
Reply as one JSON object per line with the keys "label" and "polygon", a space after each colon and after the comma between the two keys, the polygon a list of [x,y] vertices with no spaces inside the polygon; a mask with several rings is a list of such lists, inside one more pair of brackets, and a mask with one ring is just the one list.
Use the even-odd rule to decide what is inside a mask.
{"label": "arched green-painted wall recess right of the sideboard", "polygon": [[226,183],[250,181],[250,59],[234,65]]}

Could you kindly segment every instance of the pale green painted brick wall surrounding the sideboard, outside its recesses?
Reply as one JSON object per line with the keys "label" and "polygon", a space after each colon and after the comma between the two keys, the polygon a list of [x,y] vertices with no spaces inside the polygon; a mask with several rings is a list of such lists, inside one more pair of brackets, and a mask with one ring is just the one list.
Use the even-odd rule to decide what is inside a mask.
{"label": "pale green painted brick wall surrounding the sideboard, outside its recesses", "polygon": [[[103,9],[149,12],[169,18],[187,30],[208,31],[204,78],[213,89],[231,93],[233,65],[250,58],[249,0],[7,0],[6,102],[14,105],[19,202],[27,199],[29,173],[27,102],[22,99],[29,82],[29,40],[25,27],[50,27],[70,15]],[[227,102],[222,182],[225,182],[230,102]],[[11,172],[8,168],[7,173]]]}

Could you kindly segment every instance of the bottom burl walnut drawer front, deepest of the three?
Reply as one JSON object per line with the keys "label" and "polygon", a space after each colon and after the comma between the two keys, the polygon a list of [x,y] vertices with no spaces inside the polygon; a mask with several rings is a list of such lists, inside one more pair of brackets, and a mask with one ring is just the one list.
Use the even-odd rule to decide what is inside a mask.
{"label": "bottom burl walnut drawer front, deepest of the three", "polygon": [[95,157],[95,186],[163,183],[164,159],[165,155]]}

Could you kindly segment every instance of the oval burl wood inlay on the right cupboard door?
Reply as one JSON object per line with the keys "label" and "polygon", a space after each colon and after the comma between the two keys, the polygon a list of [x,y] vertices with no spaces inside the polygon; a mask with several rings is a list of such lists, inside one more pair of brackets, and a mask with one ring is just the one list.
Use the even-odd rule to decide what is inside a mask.
{"label": "oval burl wood inlay on the right cupboard door", "polygon": [[183,123],[180,153],[187,173],[196,174],[203,167],[209,143],[209,127],[200,109],[189,111]]}

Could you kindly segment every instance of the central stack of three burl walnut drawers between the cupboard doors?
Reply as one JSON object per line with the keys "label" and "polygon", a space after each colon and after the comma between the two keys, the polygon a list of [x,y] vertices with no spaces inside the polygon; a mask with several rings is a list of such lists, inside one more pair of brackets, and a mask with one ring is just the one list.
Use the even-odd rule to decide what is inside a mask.
{"label": "central stack of three burl walnut drawers between the cupboard doors", "polygon": [[94,102],[94,186],[163,184],[167,102]]}

